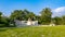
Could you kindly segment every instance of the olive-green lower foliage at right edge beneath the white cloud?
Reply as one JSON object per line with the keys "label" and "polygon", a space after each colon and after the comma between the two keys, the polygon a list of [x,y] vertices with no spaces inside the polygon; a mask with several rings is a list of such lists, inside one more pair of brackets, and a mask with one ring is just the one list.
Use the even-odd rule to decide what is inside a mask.
{"label": "olive-green lower foliage at right edge beneath the white cloud", "polygon": [[55,16],[55,17],[52,17],[52,22],[55,24],[55,25],[65,25],[65,15],[63,16]]}

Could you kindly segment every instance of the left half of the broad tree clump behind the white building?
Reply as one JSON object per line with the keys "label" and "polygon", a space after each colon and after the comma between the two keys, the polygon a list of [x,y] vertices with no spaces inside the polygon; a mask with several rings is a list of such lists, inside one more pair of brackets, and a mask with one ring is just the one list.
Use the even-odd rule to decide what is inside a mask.
{"label": "left half of the broad tree clump behind the white building", "polygon": [[11,14],[11,20],[21,20],[22,18],[22,14],[24,14],[24,12],[22,10],[15,10],[12,14]]}

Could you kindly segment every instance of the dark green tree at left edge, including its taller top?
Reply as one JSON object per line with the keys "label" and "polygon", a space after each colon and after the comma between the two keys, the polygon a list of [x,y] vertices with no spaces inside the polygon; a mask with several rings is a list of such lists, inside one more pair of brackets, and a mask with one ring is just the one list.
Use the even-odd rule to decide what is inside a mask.
{"label": "dark green tree at left edge, including its taller top", "polygon": [[9,17],[2,16],[2,12],[0,12],[0,27],[8,27],[10,25],[9,23]]}

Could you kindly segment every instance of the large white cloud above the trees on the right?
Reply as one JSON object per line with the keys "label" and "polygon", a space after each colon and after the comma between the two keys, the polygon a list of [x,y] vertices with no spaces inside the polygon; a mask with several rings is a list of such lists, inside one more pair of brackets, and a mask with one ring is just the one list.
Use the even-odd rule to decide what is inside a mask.
{"label": "large white cloud above the trees on the right", "polygon": [[56,8],[52,10],[52,12],[53,12],[52,17],[65,15],[65,7]]}

